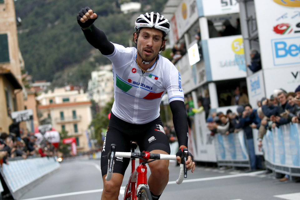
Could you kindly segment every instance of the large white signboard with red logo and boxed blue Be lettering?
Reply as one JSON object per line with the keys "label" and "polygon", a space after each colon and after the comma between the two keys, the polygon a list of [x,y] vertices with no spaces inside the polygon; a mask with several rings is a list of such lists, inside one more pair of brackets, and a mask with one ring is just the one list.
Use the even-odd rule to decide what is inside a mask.
{"label": "large white signboard with red logo and boxed blue Be lettering", "polygon": [[255,0],[255,9],[263,69],[299,66],[300,2]]}

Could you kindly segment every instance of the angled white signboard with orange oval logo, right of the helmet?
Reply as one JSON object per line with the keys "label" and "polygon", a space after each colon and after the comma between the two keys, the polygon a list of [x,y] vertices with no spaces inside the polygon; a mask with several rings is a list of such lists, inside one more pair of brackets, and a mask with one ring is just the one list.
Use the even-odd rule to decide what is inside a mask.
{"label": "angled white signboard with orange oval logo, right of the helmet", "polygon": [[176,20],[173,22],[171,20],[172,27],[174,27],[174,22],[176,22],[177,30],[173,30],[173,35],[175,34],[174,40],[176,37],[181,38],[183,34],[192,26],[194,22],[198,19],[198,10],[196,0],[183,0],[178,6],[175,12]]}

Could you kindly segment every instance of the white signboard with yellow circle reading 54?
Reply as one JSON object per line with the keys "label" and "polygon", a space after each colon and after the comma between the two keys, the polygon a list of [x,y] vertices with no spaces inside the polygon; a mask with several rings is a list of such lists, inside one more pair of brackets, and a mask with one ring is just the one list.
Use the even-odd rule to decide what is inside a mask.
{"label": "white signboard with yellow circle reading 54", "polygon": [[211,38],[207,44],[213,81],[246,77],[241,35]]}

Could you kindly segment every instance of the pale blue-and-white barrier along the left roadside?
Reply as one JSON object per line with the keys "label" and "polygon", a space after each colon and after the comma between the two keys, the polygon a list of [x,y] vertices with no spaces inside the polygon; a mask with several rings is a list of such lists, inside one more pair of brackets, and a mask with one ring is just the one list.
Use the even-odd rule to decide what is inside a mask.
{"label": "pale blue-and-white barrier along the left roadside", "polygon": [[[35,181],[60,167],[56,157],[30,158],[26,160],[8,161],[0,169],[2,196],[19,199]],[[1,187],[0,187],[1,191]],[[11,199],[11,197],[9,198]]]}

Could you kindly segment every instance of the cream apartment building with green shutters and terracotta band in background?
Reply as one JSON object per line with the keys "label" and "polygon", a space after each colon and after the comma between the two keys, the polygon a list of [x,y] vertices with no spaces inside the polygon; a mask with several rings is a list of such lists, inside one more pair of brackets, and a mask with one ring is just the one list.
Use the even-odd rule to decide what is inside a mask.
{"label": "cream apartment building with green shutters and terracotta band in background", "polygon": [[78,152],[85,152],[89,150],[85,131],[92,122],[91,102],[82,88],[77,89],[74,86],[55,88],[36,99],[42,113],[40,120],[48,118],[58,132],[67,131],[68,136],[76,138]]}

